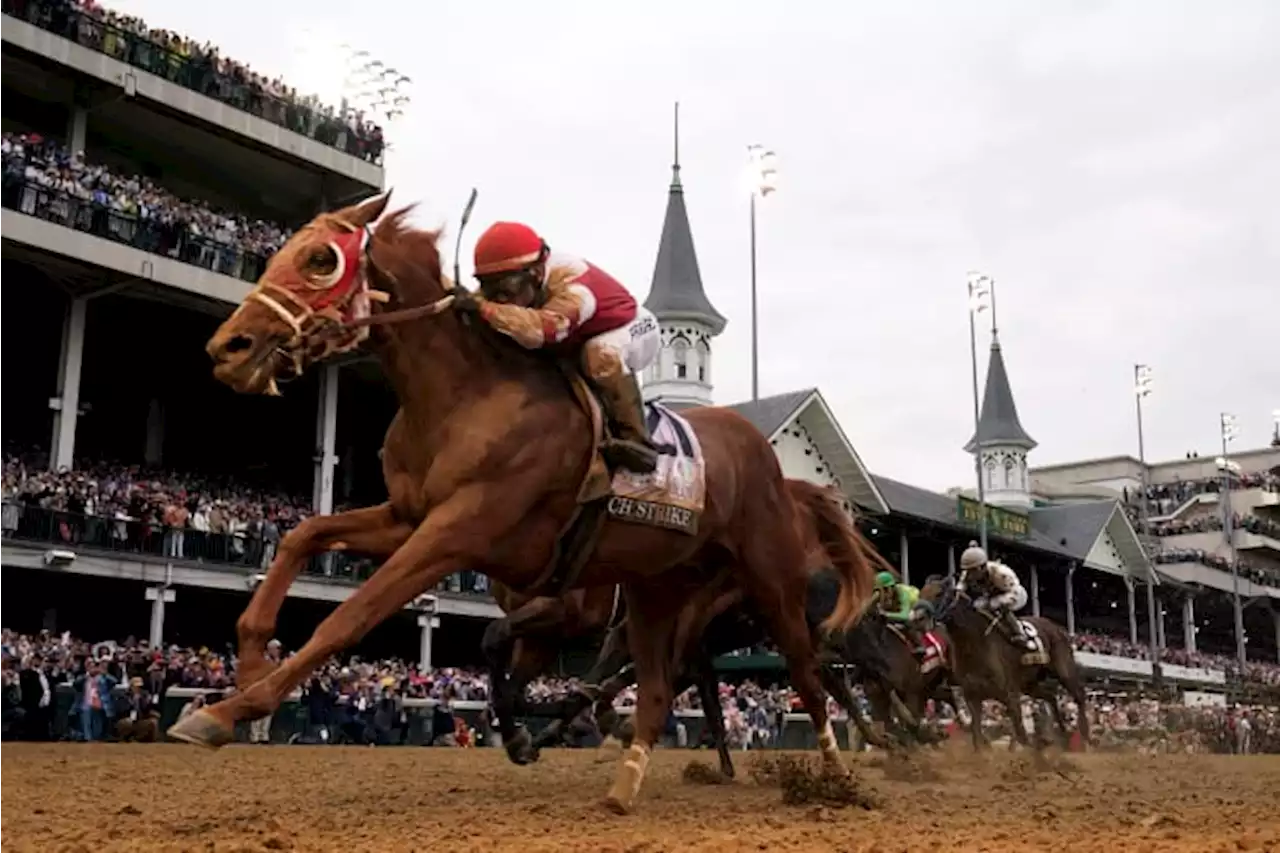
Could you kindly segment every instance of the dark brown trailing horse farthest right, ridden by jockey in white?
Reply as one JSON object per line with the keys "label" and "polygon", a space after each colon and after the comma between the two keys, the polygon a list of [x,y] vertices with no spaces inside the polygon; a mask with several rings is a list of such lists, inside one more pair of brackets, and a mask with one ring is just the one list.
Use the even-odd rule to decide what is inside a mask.
{"label": "dark brown trailing horse farthest right, ridden by jockey in white", "polygon": [[969,707],[974,748],[987,745],[982,731],[984,699],[1002,703],[1009,711],[1016,743],[1030,745],[1023,721],[1023,695],[1048,704],[1065,744],[1068,731],[1057,702],[1059,685],[1075,701],[1080,742],[1088,745],[1089,715],[1084,679],[1075,663],[1071,640],[1062,628],[1039,616],[1023,619],[1023,625],[1037,644],[1037,651],[1028,653],[1000,631],[995,616],[973,606],[973,601],[954,578],[929,578],[922,598],[925,596],[934,602],[936,619],[946,626],[951,639],[951,671]]}

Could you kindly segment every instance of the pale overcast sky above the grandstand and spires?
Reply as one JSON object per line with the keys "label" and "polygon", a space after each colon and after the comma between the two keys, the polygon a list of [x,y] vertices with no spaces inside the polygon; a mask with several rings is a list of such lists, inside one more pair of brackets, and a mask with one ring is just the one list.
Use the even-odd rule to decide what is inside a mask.
{"label": "pale overcast sky above the grandstand and spires", "polygon": [[820,388],[873,471],[972,479],[969,269],[997,280],[1033,464],[1135,452],[1135,361],[1156,373],[1153,459],[1216,452],[1224,410],[1239,447],[1270,438],[1274,0],[111,5],[300,88],[333,77],[302,27],[372,51],[415,81],[388,131],[401,201],[452,228],[477,186],[465,257],[488,222],[522,219],[641,296],[680,100],[703,280],[730,318],[718,402],[750,393],[745,146],[774,149],[762,393]]}

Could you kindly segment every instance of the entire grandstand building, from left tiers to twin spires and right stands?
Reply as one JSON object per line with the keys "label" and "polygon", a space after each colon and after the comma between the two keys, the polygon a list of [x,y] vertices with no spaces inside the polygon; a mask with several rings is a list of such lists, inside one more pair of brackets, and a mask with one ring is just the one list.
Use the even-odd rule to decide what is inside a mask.
{"label": "entire grandstand building, from left tiers to twin spires and right stands", "polygon": [[[0,275],[5,316],[18,320],[0,341],[10,365],[0,625],[223,648],[289,526],[383,496],[376,452],[396,403],[372,365],[349,359],[283,398],[251,398],[215,383],[201,350],[291,227],[383,186],[380,131],[204,55],[198,33],[160,44],[141,22],[51,0],[0,0]],[[712,338],[726,319],[703,292],[678,169],[646,304],[663,327],[646,392],[709,402]],[[1028,476],[1034,442],[998,342],[991,353],[977,450],[997,505],[992,551],[1032,590],[1030,610],[1096,635],[1080,654],[1100,676],[1151,678],[1140,658],[1155,631],[1166,678],[1224,690],[1230,666],[1203,654],[1231,648],[1229,605],[1204,592],[1221,589],[1213,553],[1153,574],[1119,475],[1064,474],[1062,488],[1048,488],[1050,469]],[[817,389],[737,409],[788,476],[838,485],[909,579],[955,570],[975,535],[974,502],[872,474]],[[1065,494],[1079,483],[1096,485]],[[1275,492],[1256,497],[1265,519]],[[1207,535],[1192,514],[1208,503],[1197,493],[1152,520],[1174,525],[1174,546],[1198,548],[1178,537]],[[1280,546],[1258,530],[1249,535],[1266,569],[1263,552]],[[284,644],[297,647],[367,570],[312,561],[282,612]],[[485,590],[483,576],[452,578],[425,612],[404,612],[361,651],[424,667],[475,663],[484,621],[498,613]],[[1271,616],[1247,613],[1258,660],[1276,660]],[[742,657],[727,663],[777,666]]]}

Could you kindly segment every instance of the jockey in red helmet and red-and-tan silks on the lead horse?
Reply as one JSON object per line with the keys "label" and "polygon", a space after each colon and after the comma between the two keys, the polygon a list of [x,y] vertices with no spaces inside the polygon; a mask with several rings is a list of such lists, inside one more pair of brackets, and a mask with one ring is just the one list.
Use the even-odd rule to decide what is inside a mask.
{"label": "jockey in red helmet and red-and-tan silks on the lead horse", "polygon": [[612,426],[613,438],[602,446],[605,459],[637,474],[653,471],[658,448],[636,380],[662,343],[653,314],[599,266],[553,254],[520,223],[494,223],[480,234],[475,275],[480,292],[458,289],[454,309],[479,314],[530,350],[580,353]]}

